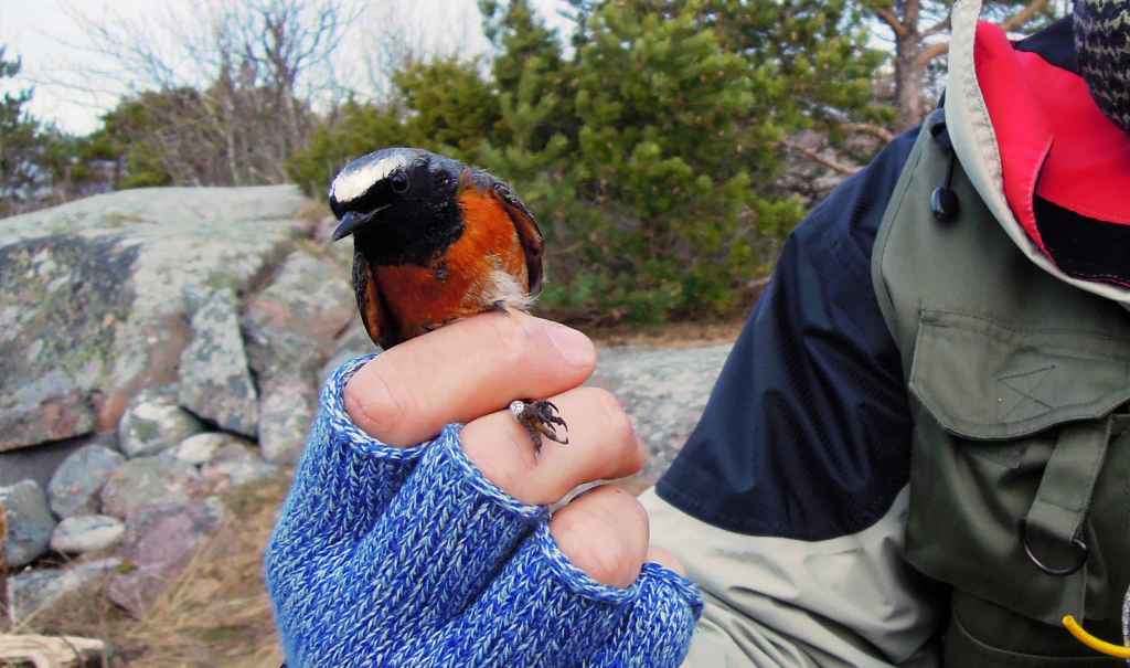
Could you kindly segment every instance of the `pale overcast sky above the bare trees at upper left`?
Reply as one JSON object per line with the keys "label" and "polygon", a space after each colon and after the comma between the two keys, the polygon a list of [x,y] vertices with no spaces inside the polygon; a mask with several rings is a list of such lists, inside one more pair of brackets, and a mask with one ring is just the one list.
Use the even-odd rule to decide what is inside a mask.
{"label": "pale overcast sky above the bare trees at upper left", "polygon": [[[357,1],[364,11],[351,26],[334,63],[338,77],[351,87],[368,87],[363,54],[371,46],[368,41],[386,29],[386,24],[377,24],[388,21],[390,11],[425,50],[472,54],[487,49],[475,0]],[[112,62],[99,62],[90,53],[92,42],[75,16],[99,23],[124,18],[165,25],[199,17],[201,5],[201,0],[0,0],[0,45],[7,45],[6,59],[24,59],[21,77],[8,89],[34,86],[32,113],[36,118],[53,121],[69,132],[89,132],[97,127],[98,115],[137,84],[131,84],[129,72],[120,71]],[[562,0],[534,0],[534,5],[551,25],[565,27],[566,21],[557,16],[564,7]],[[106,76],[76,78],[78,66],[104,69]]]}

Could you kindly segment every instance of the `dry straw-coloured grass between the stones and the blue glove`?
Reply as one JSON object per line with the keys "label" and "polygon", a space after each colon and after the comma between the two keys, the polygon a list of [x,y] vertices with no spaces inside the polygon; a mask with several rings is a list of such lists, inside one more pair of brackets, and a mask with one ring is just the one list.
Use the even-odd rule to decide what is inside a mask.
{"label": "dry straw-coloured grass between the stones and the blue glove", "polygon": [[111,604],[103,583],[40,610],[17,632],[106,640],[115,651],[107,666],[279,666],[282,657],[263,585],[262,554],[288,485],[289,477],[280,476],[225,495],[227,522],[144,619],[133,619]]}

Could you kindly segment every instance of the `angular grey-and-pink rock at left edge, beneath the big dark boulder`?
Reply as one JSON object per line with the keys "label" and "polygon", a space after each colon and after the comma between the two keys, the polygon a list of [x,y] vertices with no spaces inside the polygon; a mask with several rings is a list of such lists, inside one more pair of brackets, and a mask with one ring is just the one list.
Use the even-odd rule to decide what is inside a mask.
{"label": "angular grey-and-pink rock at left edge, beneath the big dark boulder", "polygon": [[55,368],[0,394],[0,452],[80,436],[93,431],[95,422],[88,393]]}

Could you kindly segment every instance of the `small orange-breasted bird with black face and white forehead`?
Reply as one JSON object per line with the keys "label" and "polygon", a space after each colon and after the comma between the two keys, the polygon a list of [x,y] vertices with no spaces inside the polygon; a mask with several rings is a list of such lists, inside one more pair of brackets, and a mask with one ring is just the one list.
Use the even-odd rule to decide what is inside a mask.
{"label": "small orange-breasted bird with black face and white forehead", "polygon": [[[333,240],[354,237],[357,309],[382,348],[478,313],[528,311],[541,290],[538,223],[483,170],[419,148],[381,149],[338,173],[330,208]],[[515,400],[510,410],[536,450],[541,436],[568,443],[549,401]]]}

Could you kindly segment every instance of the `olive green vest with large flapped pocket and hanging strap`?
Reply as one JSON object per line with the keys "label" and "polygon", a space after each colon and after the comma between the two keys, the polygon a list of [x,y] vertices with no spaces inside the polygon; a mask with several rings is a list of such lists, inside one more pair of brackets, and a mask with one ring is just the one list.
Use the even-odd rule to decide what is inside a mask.
{"label": "olive green vest with large flapped pocket and hanging strap", "polygon": [[1130,312],[1036,267],[959,164],[960,211],[933,218],[941,122],[923,127],[872,258],[914,420],[906,556],[950,588],[946,666],[1121,666],[1061,618],[1121,641]]}

